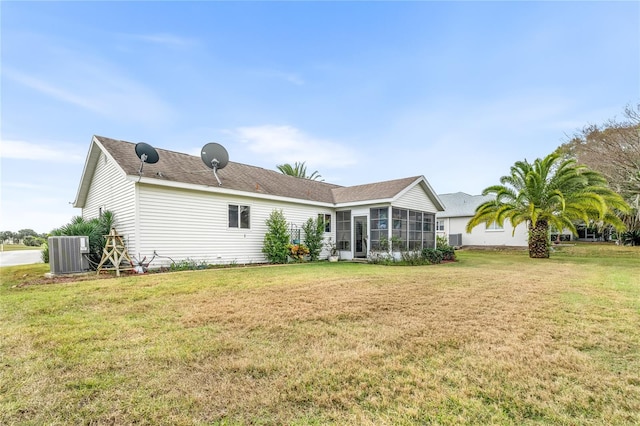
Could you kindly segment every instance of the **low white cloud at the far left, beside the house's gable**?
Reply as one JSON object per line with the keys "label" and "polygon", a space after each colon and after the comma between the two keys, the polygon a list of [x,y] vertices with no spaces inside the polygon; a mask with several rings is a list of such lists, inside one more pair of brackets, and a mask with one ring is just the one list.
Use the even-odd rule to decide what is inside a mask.
{"label": "low white cloud at the far left, beside the house's gable", "polygon": [[[25,141],[2,140],[0,157],[3,159],[46,161],[49,163],[83,163],[84,153],[76,154],[71,144],[43,145]],[[3,184],[4,185],[4,184]]]}

